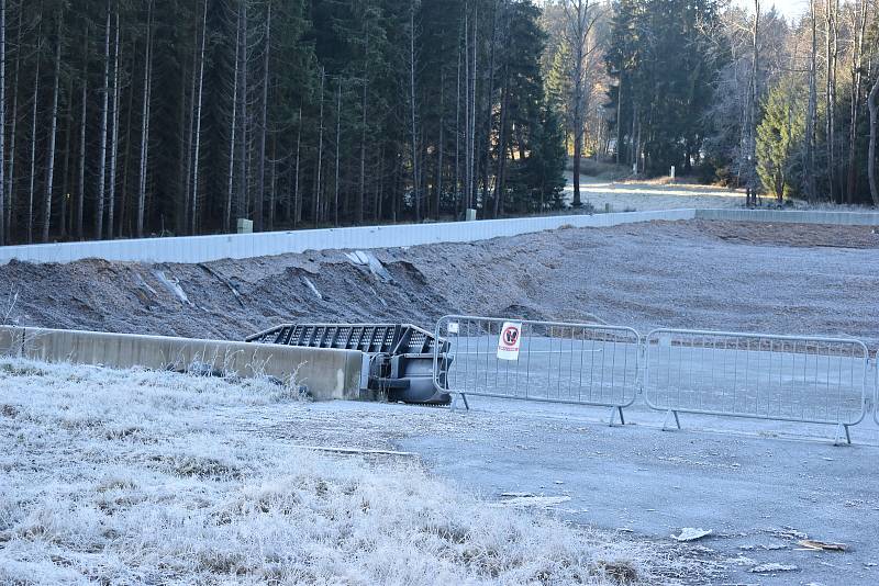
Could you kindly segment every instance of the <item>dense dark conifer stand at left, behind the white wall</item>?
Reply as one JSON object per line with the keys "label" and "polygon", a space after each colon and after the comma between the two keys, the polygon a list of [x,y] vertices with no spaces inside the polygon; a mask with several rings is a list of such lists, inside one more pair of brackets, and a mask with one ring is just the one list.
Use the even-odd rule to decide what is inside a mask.
{"label": "dense dark conifer stand at left, behind the white wall", "polygon": [[545,209],[546,35],[499,0],[0,0],[2,241]]}

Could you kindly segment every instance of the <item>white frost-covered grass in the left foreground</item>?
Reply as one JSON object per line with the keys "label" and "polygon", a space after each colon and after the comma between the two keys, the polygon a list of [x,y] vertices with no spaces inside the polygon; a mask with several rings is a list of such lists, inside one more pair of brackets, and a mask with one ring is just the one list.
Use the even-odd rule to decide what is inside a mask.
{"label": "white frost-covered grass in the left foreground", "polygon": [[487,506],[412,458],[255,431],[289,401],[268,382],[0,359],[0,583],[613,584],[678,567]]}

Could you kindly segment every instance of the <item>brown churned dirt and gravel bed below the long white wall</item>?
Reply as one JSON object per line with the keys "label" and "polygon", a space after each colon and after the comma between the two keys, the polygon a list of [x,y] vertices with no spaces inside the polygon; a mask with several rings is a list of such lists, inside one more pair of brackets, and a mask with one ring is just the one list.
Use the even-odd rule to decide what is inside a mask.
{"label": "brown churned dirt and gravel bed below the long white wall", "polygon": [[340,251],[203,266],[13,262],[0,267],[0,291],[18,292],[9,320],[22,325],[221,339],[280,322],[432,327],[468,313],[875,342],[874,232],[724,222],[560,229],[372,251],[387,273]]}

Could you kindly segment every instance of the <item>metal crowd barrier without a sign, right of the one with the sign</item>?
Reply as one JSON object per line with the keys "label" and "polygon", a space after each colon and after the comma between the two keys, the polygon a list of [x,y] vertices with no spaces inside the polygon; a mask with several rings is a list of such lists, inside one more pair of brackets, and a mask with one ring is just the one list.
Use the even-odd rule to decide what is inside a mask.
{"label": "metal crowd barrier without a sign, right of the one with the sign", "polygon": [[859,340],[687,329],[645,339],[654,409],[847,427],[866,416],[869,352]]}

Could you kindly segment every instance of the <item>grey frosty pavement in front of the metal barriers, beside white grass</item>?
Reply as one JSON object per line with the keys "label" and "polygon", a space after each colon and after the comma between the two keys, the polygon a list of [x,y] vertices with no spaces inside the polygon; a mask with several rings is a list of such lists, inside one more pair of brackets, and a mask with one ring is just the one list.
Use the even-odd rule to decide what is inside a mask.
{"label": "grey frosty pavement in front of the metal barriers, beside white grass", "polygon": [[[822,433],[801,424],[687,415],[683,431],[664,432],[663,414],[638,406],[628,425],[610,428],[596,425],[603,409],[485,397],[470,405],[450,417],[515,424],[419,432],[400,448],[467,489],[567,497],[558,509],[572,523],[656,539],[710,530],[682,543],[703,568],[722,568],[709,584],[879,583],[879,483],[865,465],[877,454],[871,425],[837,448],[798,436]],[[845,551],[809,550],[804,539]]]}

